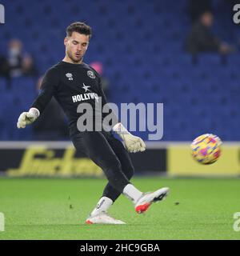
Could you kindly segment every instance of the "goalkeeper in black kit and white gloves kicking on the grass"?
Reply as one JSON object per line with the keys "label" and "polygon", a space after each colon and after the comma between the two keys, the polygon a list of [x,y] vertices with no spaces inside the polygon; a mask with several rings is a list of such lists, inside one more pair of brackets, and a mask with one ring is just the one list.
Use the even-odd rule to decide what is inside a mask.
{"label": "goalkeeper in black kit and white gloves kicking on the grass", "polygon": [[[106,104],[99,74],[82,62],[90,37],[91,28],[83,22],[74,22],[66,28],[66,56],[47,70],[38,98],[28,112],[20,114],[17,126],[25,128],[34,122],[54,96],[69,120],[70,138],[74,147],[100,166],[108,179],[102,198],[86,219],[86,223],[125,224],[107,214],[107,210],[120,194],[130,198],[136,212],[140,214],[145,212],[152,202],[165,198],[169,189],[162,188],[155,192],[142,193],[130,183],[134,167],[127,151],[144,151],[146,146],[141,138],[130,134],[121,122],[115,122],[112,130],[119,134],[125,147],[111,132],[78,129],[77,122],[81,116],[77,112],[78,105],[86,102],[95,108],[100,97],[102,105]],[[94,118],[96,117],[93,116]]]}

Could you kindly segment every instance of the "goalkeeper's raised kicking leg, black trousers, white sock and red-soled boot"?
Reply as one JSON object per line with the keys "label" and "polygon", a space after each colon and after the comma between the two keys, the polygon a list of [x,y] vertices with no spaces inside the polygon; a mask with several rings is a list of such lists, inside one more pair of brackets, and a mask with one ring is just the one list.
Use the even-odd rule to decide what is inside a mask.
{"label": "goalkeeper's raised kicking leg, black trousers, white sock and red-soled boot", "polygon": [[[111,148],[110,143],[101,133],[85,132],[75,135],[72,140],[77,150],[84,152],[102,168],[114,190],[118,190],[120,194],[125,194],[127,198],[130,198],[134,202],[138,213],[146,211],[152,202],[162,200],[162,198],[166,197],[168,189],[158,190],[150,194],[142,194],[141,191],[130,184],[129,179],[122,172],[121,162]],[[113,201],[110,200],[110,198],[109,200],[105,200],[107,202],[106,207],[112,204]],[[114,224],[118,223],[116,222]]]}

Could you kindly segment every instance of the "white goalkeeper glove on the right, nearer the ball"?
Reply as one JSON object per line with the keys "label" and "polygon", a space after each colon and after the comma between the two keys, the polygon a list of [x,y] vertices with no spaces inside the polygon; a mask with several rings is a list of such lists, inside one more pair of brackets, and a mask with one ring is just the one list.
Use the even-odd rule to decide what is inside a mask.
{"label": "white goalkeeper glove on the right, nearer the ball", "polygon": [[118,122],[113,127],[113,130],[122,138],[126,150],[128,150],[130,153],[136,153],[138,151],[146,150],[146,145],[143,142],[142,138],[130,134],[130,132],[126,130],[124,126],[122,126],[121,122]]}

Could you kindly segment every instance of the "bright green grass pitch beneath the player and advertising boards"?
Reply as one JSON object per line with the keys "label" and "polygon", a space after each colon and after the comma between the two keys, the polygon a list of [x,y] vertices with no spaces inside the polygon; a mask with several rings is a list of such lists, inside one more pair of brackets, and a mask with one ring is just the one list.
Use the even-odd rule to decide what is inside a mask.
{"label": "bright green grass pitch beneath the player and advertising boards", "polygon": [[142,191],[170,187],[165,201],[136,214],[121,196],[109,213],[126,225],[86,225],[104,179],[0,178],[1,239],[239,239],[240,179],[134,178]]}

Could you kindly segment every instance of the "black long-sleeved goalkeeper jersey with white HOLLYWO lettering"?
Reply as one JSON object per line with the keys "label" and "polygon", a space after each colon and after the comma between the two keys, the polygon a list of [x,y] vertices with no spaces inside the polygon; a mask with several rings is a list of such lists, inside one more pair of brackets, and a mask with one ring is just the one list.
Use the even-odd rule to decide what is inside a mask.
{"label": "black long-sleeved goalkeeper jersey with white HOLLYWO lettering", "polygon": [[52,97],[56,98],[68,118],[70,135],[78,132],[77,121],[82,115],[77,112],[79,104],[83,102],[90,103],[93,108],[93,118],[96,102],[102,100],[102,106],[106,104],[101,78],[86,63],[59,62],[47,70],[42,80],[40,94],[35,99],[32,107],[37,108],[42,114]]}

